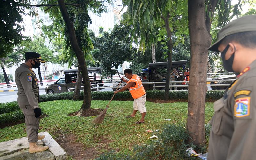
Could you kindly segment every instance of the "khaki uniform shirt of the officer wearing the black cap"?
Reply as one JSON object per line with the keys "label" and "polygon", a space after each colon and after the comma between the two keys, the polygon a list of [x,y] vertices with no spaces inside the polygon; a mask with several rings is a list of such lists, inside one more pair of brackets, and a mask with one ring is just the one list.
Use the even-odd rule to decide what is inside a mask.
{"label": "khaki uniform shirt of the officer wearing the black cap", "polygon": [[17,102],[20,108],[24,109],[25,105],[30,105],[34,109],[39,108],[38,97],[39,87],[36,74],[25,63],[15,71],[15,81],[18,87]]}

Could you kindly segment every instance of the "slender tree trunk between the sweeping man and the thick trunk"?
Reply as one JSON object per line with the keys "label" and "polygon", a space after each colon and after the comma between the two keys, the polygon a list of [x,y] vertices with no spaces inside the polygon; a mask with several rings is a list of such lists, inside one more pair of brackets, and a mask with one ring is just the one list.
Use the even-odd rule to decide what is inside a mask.
{"label": "slender tree trunk between the sweeping man and the thick trunk", "polygon": [[169,99],[169,86],[170,86],[170,74],[171,74],[171,67],[172,67],[172,33],[169,25],[169,18],[170,13],[168,12],[166,17],[161,16],[161,18],[164,20],[165,28],[167,31],[167,37],[168,40],[168,60],[167,60],[167,73],[166,73],[166,80],[165,80],[165,92],[164,92],[164,100]]}

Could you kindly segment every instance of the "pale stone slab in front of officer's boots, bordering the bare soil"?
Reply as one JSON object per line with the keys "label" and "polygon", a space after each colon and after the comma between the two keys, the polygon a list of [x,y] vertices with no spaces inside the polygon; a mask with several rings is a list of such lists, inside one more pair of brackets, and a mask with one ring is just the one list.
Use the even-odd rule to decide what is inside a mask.
{"label": "pale stone slab in front of officer's boots, bordering the bare soil", "polygon": [[42,140],[45,146],[49,146],[49,150],[55,156],[56,160],[68,159],[67,153],[63,148],[52,138],[52,136],[48,132],[42,132],[40,134],[44,134],[45,138]]}

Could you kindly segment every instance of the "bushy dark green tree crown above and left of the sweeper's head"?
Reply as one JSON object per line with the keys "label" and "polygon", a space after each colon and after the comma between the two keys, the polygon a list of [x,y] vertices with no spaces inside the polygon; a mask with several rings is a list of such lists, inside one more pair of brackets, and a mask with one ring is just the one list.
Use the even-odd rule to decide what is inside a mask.
{"label": "bushy dark green tree crown above and left of the sweeper's head", "polygon": [[95,63],[103,68],[103,75],[112,77],[116,74],[116,69],[124,61],[130,61],[131,55],[136,52],[135,48],[130,48],[129,40],[125,38],[129,29],[129,26],[122,24],[116,24],[109,31],[104,31],[100,27],[99,37],[95,37],[95,34],[91,31],[90,36],[94,45],[92,55]]}

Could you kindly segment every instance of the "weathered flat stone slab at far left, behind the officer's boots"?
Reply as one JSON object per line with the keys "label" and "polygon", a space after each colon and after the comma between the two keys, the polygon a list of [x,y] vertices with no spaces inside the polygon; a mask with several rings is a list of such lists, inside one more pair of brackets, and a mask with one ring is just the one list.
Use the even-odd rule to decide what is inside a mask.
{"label": "weathered flat stone slab at far left, behind the officer's boots", "polygon": [[[41,133],[40,133],[41,134]],[[41,140],[38,140],[38,144],[44,145]],[[0,157],[10,155],[12,153],[25,150],[29,148],[28,137],[22,137],[15,140],[9,140],[0,143]]]}

